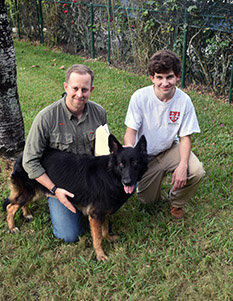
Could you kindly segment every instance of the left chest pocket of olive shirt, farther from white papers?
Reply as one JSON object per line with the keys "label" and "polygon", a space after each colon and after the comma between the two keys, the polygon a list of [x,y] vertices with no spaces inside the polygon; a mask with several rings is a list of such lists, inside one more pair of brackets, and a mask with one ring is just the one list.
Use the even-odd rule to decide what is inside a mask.
{"label": "left chest pocket of olive shirt, farther from white papers", "polygon": [[67,133],[53,133],[50,136],[51,148],[59,149],[61,151],[71,152],[74,144],[74,137]]}

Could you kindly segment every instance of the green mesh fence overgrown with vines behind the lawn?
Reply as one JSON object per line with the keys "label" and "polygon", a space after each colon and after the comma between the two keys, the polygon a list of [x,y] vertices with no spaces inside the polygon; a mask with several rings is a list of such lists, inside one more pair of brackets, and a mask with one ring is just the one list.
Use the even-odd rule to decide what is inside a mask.
{"label": "green mesh fence overgrown with vines behind the lawn", "polygon": [[233,1],[8,1],[18,36],[59,45],[145,73],[150,56],[171,49],[185,83],[229,94],[233,82]]}

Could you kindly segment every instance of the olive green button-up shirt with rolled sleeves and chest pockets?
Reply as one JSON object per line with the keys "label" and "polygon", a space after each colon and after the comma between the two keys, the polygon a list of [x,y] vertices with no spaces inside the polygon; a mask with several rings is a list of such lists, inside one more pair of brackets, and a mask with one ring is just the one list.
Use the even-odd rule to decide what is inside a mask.
{"label": "olive green button-up shirt with rolled sleeves and chest pockets", "polygon": [[106,112],[88,100],[78,120],[66,107],[62,98],[40,111],[35,117],[23,153],[23,167],[30,179],[45,173],[40,164],[47,147],[75,154],[93,154],[95,130],[107,123]]}

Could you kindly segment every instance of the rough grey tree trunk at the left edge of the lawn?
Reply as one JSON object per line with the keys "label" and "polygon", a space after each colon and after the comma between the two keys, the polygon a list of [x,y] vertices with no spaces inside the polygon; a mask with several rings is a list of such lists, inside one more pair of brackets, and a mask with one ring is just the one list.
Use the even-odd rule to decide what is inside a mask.
{"label": "rough grey tree trunk at the left edge of the lawn", "polygon": [[24,146],[24,123],[16,82],[16,58],[4,0],[0,0],[0,154],[14,156]]}

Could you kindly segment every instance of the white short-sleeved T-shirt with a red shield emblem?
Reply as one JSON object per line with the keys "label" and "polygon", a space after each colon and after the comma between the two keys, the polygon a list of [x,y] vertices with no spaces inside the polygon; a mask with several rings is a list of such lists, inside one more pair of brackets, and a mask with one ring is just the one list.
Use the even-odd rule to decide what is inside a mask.
{"label": "white short-sleeved T-shirt with a red shield emblem", "polygon": [[125,124],[137,131],[136,143],[145,135],[149,155],[170,148],[177,136],[200,133],[192,101],[179,88],[169,102],[157,98],[153,85],[137,90],[131,97]]}

